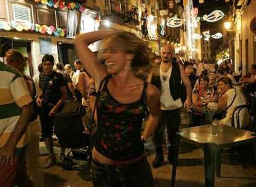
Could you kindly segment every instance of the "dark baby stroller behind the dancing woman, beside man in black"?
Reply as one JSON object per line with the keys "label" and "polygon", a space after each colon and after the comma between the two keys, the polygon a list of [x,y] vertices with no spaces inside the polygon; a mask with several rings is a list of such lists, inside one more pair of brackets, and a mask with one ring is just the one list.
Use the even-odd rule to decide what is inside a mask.
{"label": "dark baby stroller behind the dancing woman, beside man in black", "polygon": [[85,125],[82,121],[85,114],[85,107],[81,103],[67,101],[61,111],[54,116],[54,133],[59,144],[64,148],[69,148],[62,162],[64,170],[72,169],[74,164],[72,159],[90,162],[91,137],[90,134],[85,133]]}

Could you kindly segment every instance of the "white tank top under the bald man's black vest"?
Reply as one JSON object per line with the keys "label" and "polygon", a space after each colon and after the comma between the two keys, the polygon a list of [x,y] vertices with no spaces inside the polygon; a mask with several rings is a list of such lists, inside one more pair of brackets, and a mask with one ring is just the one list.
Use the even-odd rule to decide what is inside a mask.
{"label": "white tank top under the bald man's black vest", "polygon": [[160,101],[161,101],[161,109],[163,110],[172,110],[181,108],[182,102],[181,98],[177,100],[173,100],[170,93],[169,87],[169,79],[171,78],[172,67],[164,73],[160,68],[160,80],[161,80],[161,93],[160,93]]}

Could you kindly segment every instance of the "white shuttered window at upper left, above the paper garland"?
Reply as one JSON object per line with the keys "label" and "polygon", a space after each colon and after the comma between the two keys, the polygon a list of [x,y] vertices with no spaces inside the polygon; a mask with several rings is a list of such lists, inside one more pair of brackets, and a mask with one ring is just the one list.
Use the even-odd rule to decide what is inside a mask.
{"label": "white shuttered window at upper left, above the paper garland", "polygon": [[27,6],[12,4],[13,18],[18,22],[32,22],[31,9]]}

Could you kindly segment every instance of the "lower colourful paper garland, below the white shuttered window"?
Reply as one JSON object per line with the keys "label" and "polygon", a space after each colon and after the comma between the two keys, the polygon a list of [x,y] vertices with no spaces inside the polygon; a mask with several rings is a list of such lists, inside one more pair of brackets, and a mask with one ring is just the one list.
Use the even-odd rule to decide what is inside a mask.
{"label": "lower colourful paper garland, below the white shuttered window", "polygon": [[12,20],[10,23],[8,22],[0,22],[0,30],[11,31],[17,30],[19,32],[24,31],[35,31],[36,33],[41,34],[49,34],[54,36],[61,36],[64,37],[66,35],[66,29],[62,28],[55,28],[53,25],[39,25],[34,23],[28,22],[16,22]]}

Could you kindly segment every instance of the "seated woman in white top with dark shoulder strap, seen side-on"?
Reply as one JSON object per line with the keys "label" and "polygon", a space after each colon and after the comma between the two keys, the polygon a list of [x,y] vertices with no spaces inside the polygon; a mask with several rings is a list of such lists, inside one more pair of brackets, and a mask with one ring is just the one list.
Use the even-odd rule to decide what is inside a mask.
{"label": "seated woman in white top with dark shoulder strap, seen side-on", "polygon": [[[231,79],[224,76],[218,80],[218,94],[220,95],[218,101],[218,109],[226,111],[226,115],[221,119],[221,124],[231,126],[233,119],[233,112],[237,106],[247,105],[247,100],[244,93],[238,87],[233,87]],[[244,129],[249,126],[250,116],[249,110],[243,108],[239,114],[240,128]],[[237,127],[237,116],[234,117],[234,125]]]}

